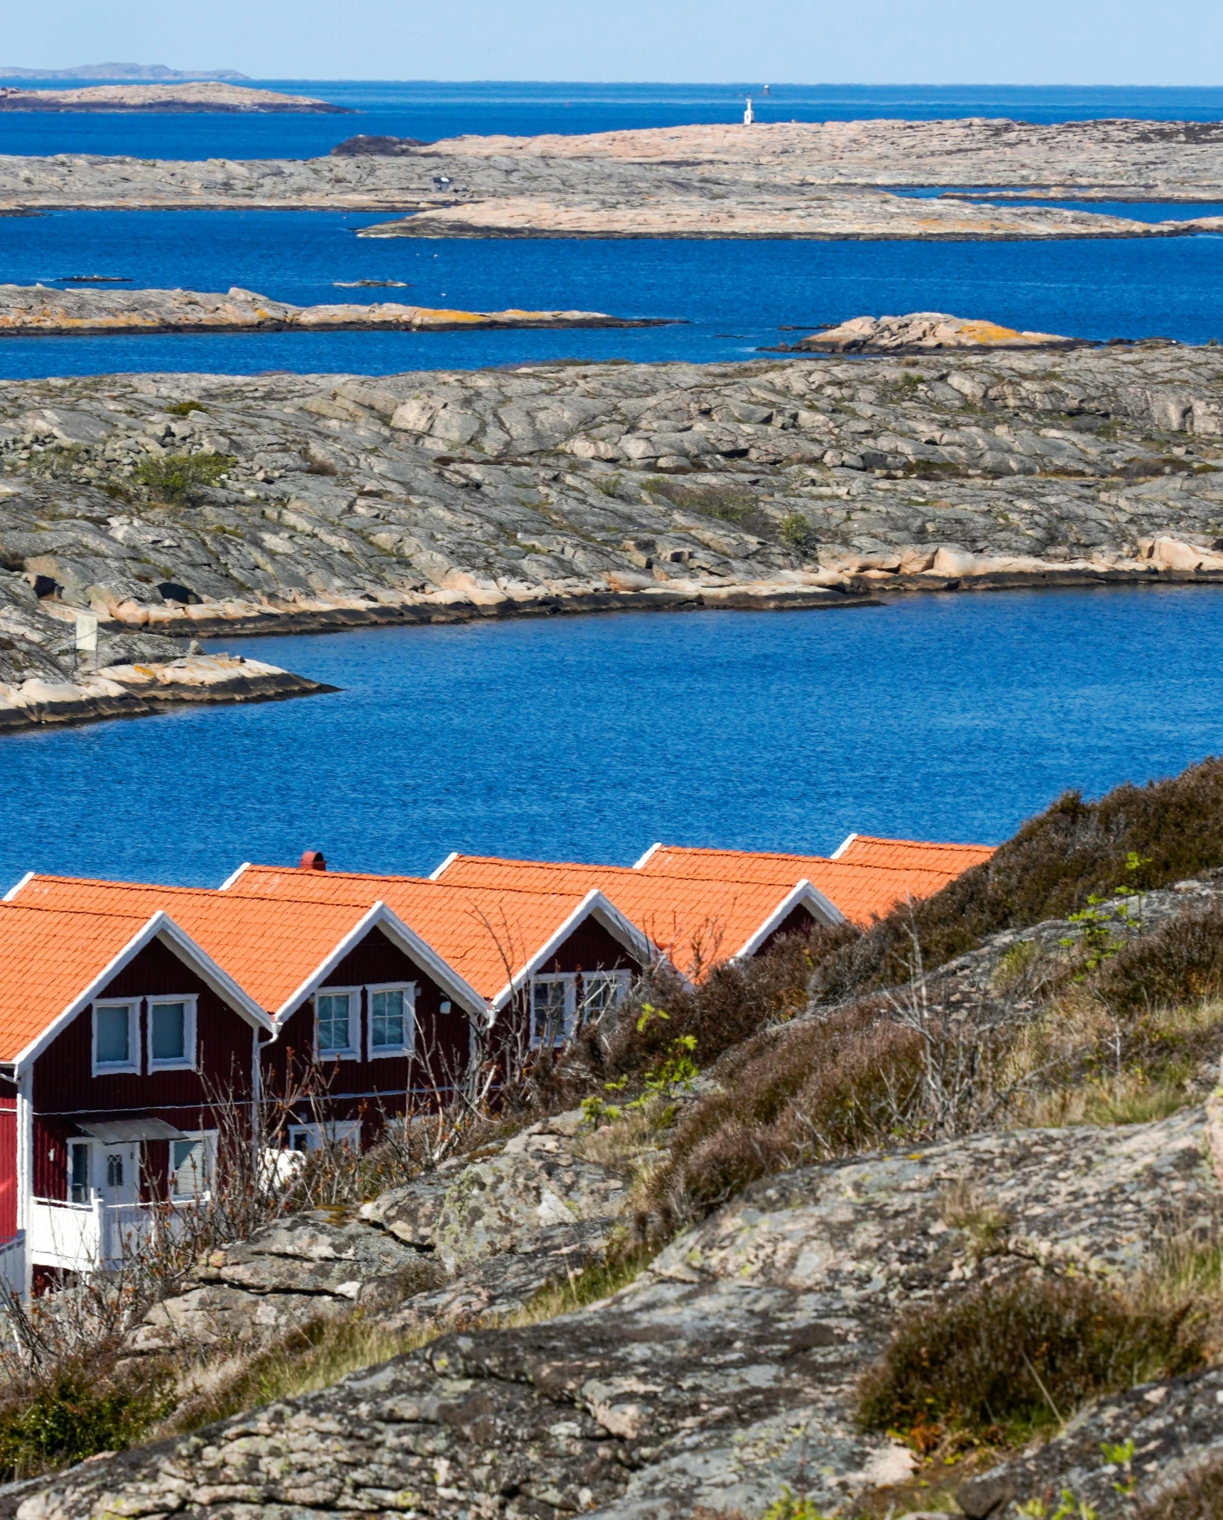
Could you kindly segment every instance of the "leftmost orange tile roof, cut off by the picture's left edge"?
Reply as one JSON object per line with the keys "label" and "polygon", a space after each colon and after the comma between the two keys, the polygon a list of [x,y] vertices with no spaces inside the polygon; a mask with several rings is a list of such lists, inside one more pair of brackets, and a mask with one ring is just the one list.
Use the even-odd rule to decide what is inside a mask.
{"label": "leftmost orange tile roof, cut off by the picture's left edge", "polygon": [[14,1061],[153,917],[0,903],[0,1061]]}

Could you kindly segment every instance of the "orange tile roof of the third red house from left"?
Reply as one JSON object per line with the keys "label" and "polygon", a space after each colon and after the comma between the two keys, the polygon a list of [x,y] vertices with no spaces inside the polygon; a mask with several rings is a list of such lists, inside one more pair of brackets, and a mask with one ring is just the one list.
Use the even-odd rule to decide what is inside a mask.
{"label": "orange tile roof of the third red house from left", "polygon": [[415,876],[248,865],[223,895],[258,892],[298,903],[366,906],[381,900],[482,997],[492,1000],[548,944],[596,885],[517,889],[495,882],[453,885]]}

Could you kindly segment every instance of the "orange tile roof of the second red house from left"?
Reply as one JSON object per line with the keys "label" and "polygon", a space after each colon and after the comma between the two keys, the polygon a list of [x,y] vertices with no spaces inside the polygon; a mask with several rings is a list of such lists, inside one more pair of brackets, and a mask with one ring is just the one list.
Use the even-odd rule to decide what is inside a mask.
{"label": "orange tile roof of the second red house from left", "polygon": [[24,907],[120,915],[129,924],[146,923],[163,909],[269,1014],[289,1002],[372,907],[372,901],[287,903],[208,888],[62,876],[30,877],[14,901]]}

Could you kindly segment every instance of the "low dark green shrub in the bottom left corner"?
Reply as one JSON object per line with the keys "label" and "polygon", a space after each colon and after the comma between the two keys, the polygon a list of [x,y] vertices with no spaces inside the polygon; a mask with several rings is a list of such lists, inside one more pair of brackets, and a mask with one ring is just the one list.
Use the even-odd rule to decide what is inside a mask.
{"label": "low dark green shrub in the bottom left corner", "polygon": [[170,1376],[128,1383],[84,1363],[61,1366],[0,1409],[0,1473],[8,1480],[70,1467],[96,1452],[122,1452],[172,1404]]}

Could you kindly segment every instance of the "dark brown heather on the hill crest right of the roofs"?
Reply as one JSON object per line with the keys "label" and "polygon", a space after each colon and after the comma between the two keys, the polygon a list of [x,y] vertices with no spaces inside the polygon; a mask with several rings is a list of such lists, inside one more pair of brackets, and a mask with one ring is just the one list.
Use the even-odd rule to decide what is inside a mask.
{"label": "dark brown heather on the hill crest right of the roofs", "polygon": [[[1130,857],[1141,865],[1130,871]],[[816,968],[813,990],[839,1000],[910,974],[912,933],[925,970],[986,935],[1065,918],[1118,886],[1147,891],[1223,865],[1223,760],[1180,775],[1118,786],[1098,803],[1067,792],[1000,845],[913,907],[896,909]]]}

